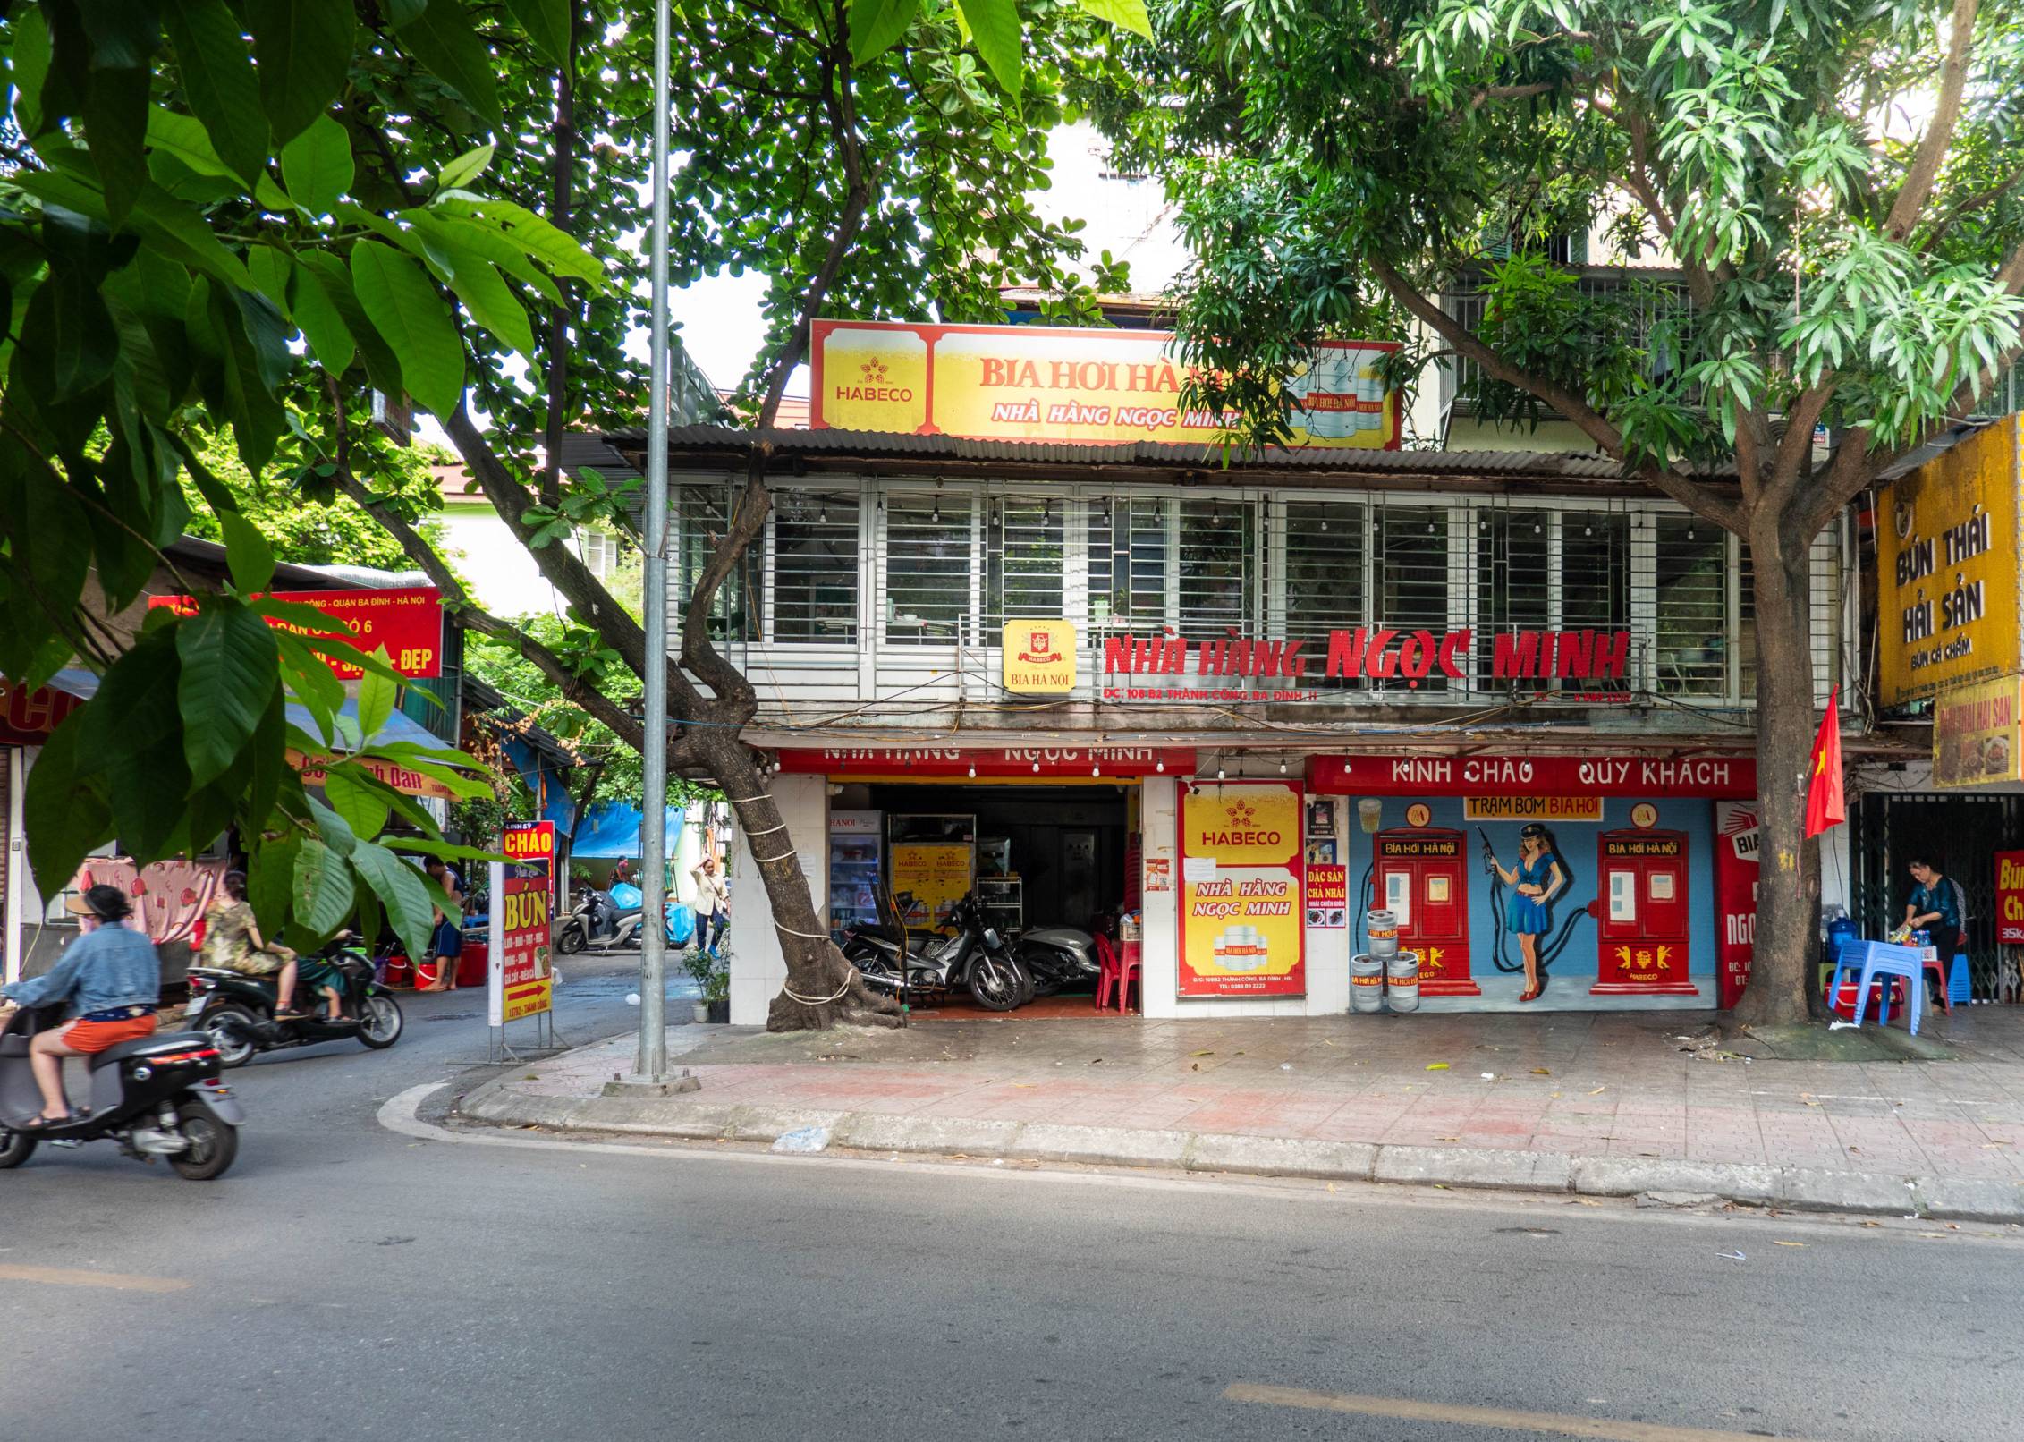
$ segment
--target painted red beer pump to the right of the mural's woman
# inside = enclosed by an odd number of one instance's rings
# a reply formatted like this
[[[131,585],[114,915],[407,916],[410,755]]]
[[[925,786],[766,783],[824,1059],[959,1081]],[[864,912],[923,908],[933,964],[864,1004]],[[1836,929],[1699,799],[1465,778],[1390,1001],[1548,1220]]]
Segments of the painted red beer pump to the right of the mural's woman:
[[[1698,996],[1686,974],[1686,832],[1605,830],[1589,903],[1601,938],[1591,996]]]

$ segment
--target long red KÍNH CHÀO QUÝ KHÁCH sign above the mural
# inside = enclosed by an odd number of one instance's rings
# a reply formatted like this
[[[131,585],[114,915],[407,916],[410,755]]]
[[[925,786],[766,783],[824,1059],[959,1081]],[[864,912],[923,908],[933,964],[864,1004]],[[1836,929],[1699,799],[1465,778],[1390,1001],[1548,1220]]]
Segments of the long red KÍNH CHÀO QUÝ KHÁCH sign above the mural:
[[[1324,796],[1755,796],[1751,755],[1316,755]]]

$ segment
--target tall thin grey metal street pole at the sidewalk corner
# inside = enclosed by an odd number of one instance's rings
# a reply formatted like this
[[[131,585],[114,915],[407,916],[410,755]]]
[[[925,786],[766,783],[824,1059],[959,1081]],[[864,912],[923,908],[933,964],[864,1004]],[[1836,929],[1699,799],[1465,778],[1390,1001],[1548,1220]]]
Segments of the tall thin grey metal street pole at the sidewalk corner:
[[[646,421],[646,798],[640,818],[640,1057],[642,1082],[668,1075],[668,0],[654,0],[654,304],[648,330],[652,395]]]

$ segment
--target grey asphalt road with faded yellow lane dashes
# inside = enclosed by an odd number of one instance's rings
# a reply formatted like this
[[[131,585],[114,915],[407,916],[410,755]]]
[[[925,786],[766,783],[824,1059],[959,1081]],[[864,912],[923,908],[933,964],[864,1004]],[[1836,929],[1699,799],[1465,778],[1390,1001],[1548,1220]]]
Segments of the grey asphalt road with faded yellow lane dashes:
[[[625,1027],[625,964],[579,968],[565,1037]],[[2024,1416],[2016,1233],[417,1136],[376,1112],[484,1075],[449,1065],[484,1013],[407,1009],[393,1051],[235,1073],[219,1183],[105,1144],[0,1173],[0,1438],[2008,1442]]]

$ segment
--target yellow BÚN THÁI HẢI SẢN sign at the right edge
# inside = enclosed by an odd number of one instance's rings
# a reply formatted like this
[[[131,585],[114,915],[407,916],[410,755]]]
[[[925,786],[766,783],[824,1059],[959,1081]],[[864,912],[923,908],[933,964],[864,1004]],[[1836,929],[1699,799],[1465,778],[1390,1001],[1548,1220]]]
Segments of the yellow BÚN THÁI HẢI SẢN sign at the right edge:
[[[1876,525],[1880,703],[2018,670],[2018,417],[1884,490]]]

